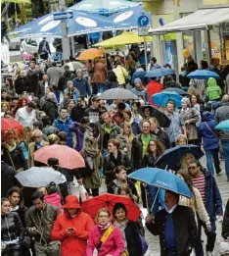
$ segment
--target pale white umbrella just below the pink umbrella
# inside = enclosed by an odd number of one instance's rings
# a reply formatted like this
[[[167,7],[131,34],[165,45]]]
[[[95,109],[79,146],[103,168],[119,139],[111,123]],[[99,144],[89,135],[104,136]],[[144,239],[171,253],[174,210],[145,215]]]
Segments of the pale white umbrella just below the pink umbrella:
[[[23,186],[28,187],[46,186],[52,181],[56,184],[67,181],[66,177],[60,172],[55,171],[53,168],[46,167],[32,167],[16,175],[16,178]]]

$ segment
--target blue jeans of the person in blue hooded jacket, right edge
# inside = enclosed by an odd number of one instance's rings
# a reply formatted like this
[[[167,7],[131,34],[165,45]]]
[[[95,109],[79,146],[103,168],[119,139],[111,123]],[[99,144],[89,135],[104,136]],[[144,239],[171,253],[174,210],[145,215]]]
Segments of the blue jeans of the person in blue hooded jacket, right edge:
[[[221,172],[220,162],[218,159],[218,151],[219,148],[206,150],[206,168],[212,174],[212,176],[214,175],[214,168],[216,174],[219,174]],[[212,162],[214,162],[214,168]]]

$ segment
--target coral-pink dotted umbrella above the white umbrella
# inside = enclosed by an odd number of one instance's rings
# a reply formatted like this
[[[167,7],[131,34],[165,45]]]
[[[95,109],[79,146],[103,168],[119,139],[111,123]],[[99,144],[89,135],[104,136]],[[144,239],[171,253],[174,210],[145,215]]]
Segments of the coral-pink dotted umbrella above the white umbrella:
[[[62,145],[51,145],[38,149],[34,153],[35,161],[48,164],[48,159],[55,157],[59,159],[60,166],[67,169],[85,167],[84,159],[73,148]]]

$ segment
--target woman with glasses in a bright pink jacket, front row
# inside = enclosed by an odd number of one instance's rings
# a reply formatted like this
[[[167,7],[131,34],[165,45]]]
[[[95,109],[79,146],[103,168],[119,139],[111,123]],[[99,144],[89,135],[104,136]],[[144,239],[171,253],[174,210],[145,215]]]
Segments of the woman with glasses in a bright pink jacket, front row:
[[[100,209],[96,219],[98,225],[90,231],[87,241],[87,256],[93,256],[95,248],[98,250],[98,256],[120,256],[124,251],[124,241],[120,230],[114,227],[108,238],[103,243],[101,242],[103,234],[113,226],[109,209]]]

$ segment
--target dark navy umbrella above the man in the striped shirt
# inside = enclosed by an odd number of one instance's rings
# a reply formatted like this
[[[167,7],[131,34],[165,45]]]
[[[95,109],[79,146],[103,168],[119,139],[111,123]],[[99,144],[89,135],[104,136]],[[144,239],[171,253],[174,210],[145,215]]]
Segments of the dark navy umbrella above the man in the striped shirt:
[[[158,158],[156,164],[159,165],[160,163],[163,163],[167,165],[168,169],[176,171],[180,167],[180,160],[182,156],[186,153],[191,153],[196,159],[200,159],[205,155],[200,146],[178,145],[165,150]]]

